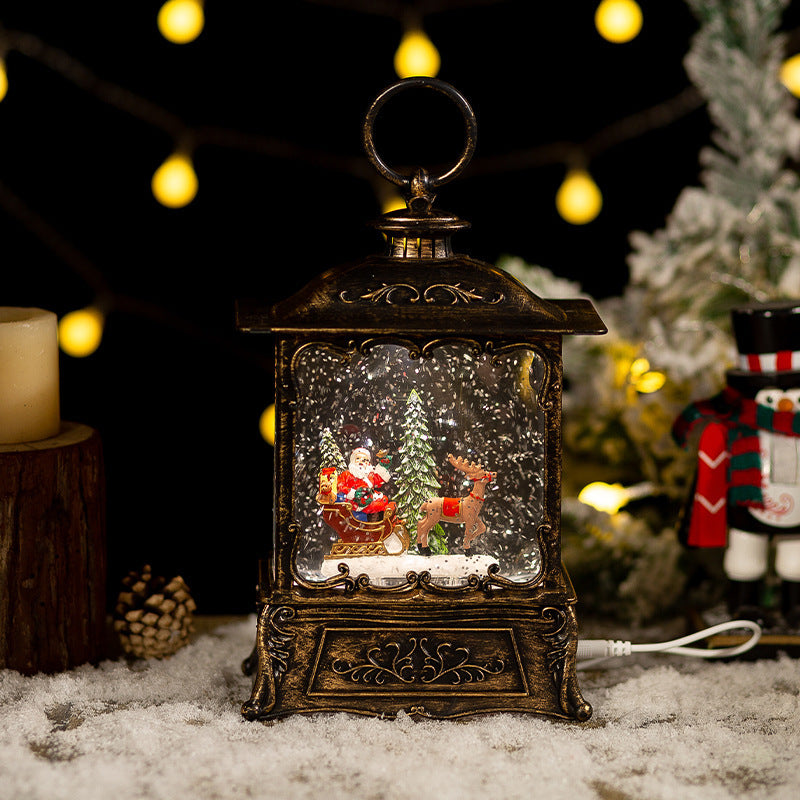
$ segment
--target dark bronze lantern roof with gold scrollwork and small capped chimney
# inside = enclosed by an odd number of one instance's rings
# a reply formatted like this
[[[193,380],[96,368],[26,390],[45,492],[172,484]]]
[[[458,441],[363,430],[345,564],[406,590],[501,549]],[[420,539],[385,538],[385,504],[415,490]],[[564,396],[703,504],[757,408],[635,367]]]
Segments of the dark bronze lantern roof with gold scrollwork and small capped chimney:
[[[329,269],[271,308],[240,301],[237,327],[305,335],[606,332],[589,300],[543,299],[503,270],[452,253],[449,232],[466,223],[435,209],[428,215],[427,224],[418,214],[385,215],[376,227],[387,233],[389,254]]]

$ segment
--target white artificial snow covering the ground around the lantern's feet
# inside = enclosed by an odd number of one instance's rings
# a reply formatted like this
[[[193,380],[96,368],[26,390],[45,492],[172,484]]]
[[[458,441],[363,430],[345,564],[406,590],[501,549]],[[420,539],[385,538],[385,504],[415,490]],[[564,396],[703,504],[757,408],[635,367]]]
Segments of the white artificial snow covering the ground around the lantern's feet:
[[[245,722],[255,618],[171,659],[0,671],[0,798],[777,798],[800,787],[800,663],[635,656],[584,724],[522,715]]]

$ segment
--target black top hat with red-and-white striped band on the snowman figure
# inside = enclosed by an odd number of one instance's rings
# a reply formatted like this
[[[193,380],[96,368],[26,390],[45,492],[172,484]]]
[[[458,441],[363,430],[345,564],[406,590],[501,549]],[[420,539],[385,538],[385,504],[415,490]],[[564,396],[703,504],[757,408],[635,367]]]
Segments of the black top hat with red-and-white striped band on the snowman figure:
[[[800,388],[800,300],[734,308],[731,321],[739,363],[727,373],[730,386],[745,394]]]

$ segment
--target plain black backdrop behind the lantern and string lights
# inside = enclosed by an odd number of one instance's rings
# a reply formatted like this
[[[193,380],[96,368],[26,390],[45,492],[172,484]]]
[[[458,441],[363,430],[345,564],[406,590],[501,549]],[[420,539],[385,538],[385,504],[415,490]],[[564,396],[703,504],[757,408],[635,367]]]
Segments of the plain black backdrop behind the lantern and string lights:
[[[102,275],[116,307],[97,353],[62,356],[61,393],[63,418],[96,427],[104,441],[110,593],[128,569],[152,563],[181,573],[203,612],[248,611],[271,536],[272,452],[257,423],[274,393],[270,343],[235,331],[234,302],[271,304],[378,247],[365,224],[379,213],[373,187],[336,164],[363,158],[363,117],[396,80],[402,29],[348,4],[208,0],[205,31],[179,46],[156,29],[159,5],[0,8],[6,29],[60,48],[188,127],[236,132],[231,146],[196,149],[196,200],[165,209],[150,178],[172,136],[10,52],[0,182],[29,216],[20,206],[0,212],[0,304],[61,315],[95,300],[96,281],[76,262]],[[384,5],[395,4],[364,7]],[[518,255],[604,297],[627,281],[629,232],[662,227],[680,190],[697,183],[705,110],[594,159],[605,206],[587,226],[555,212],[563,164],[485,168],[518,150],[580,143],[688,85],[682,61],[696,25],[683,2],[642,0],[644,28],[625,45],[598,36],[595,5],[453,2],[425,28],[442,56],[439,77],[478,119],[474,169],[437,203],[472,222],[457,249],[486,261]],[[420,102],[425,118],[402,135],[383,125],[379,146],[409,163],[457,155],[458,113]],[[321,159],[276,158],[244,134]],[[66,257],[64,242],[74,248]]]

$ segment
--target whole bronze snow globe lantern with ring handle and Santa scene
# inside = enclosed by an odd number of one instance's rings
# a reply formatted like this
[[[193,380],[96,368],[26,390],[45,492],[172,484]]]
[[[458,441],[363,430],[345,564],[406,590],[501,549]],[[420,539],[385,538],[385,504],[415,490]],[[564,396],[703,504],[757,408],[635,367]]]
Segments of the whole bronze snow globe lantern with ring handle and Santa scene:
[[[466,123],[439,177],[374,148],[375,115],[410,86]],[[588,719],[561,563],[561,342],[605,327],[588,300],[543,300],[453,252],[467,223],[431,193],[468,163],[475,118],[452,86],[395,84],[364,138],[409,195],[376,223],[386,252],[238,308],[241,330],[277,340],[274,552],[242,713]]]

